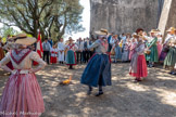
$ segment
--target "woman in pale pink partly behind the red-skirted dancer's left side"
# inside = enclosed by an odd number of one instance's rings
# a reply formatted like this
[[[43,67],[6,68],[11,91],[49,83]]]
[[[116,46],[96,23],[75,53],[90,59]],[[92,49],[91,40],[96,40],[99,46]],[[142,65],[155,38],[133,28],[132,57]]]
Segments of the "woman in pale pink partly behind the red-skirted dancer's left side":
[[[137,34],[133,34],[133,39],[131,39],[131,42],[130,42],[130,48],[129,48],[129,61],[131,61],[131,57],[135,53],[135,48],[137,46],[137,42],[136,42],[136,39],[138,38],[139,36],[137,36]]]

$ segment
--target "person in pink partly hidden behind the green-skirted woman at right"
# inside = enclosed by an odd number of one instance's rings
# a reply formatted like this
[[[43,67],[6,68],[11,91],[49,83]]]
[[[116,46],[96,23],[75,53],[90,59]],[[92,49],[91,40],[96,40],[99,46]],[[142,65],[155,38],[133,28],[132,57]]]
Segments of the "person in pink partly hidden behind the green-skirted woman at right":
[[[162,34],[159,32],[159,34],[156,34],[156,36],[158,36],[158,56],[160,58],[160,54],[161,54],[162,49],[163,49],[163,44],[162,44]]]

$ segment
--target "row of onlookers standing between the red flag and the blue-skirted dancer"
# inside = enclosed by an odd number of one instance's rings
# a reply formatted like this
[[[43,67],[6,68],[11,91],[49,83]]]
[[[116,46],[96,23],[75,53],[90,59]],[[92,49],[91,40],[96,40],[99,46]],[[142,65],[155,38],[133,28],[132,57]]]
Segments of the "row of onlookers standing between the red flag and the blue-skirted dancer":
[[[88,49],[91,43],[92,40],[89,38],[79,38],[76,42],[72,37],[65,42],[61,38],[56,43],[53,43],[51,38],[45,38],[42,42],[42,58],[47,64],[66,63],[70,69],[73,69],[73,65],[87,63],[92,56],[93,50]]]

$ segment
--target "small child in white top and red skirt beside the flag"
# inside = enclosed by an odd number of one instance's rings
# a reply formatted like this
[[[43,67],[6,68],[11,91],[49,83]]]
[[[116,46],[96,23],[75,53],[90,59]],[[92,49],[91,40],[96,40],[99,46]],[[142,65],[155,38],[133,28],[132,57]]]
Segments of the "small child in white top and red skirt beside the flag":
[[[58,51],[59,50],[55,48],[55,46],[52,46],[52,48],[50,50],[50,53],[51,53],[50,63],[51,64],[55,64],[56,63]]]

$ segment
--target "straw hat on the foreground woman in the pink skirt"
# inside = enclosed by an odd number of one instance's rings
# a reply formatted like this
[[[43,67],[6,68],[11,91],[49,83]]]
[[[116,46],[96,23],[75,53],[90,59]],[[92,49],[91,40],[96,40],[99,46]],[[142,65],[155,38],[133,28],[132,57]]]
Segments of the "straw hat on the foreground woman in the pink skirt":
[[[30,46],[37,41],[36,38],[29,38],[27,37],[26,34],[18,34],[10,39],[14,41],[13,43],[25,44],[25,46]]]

